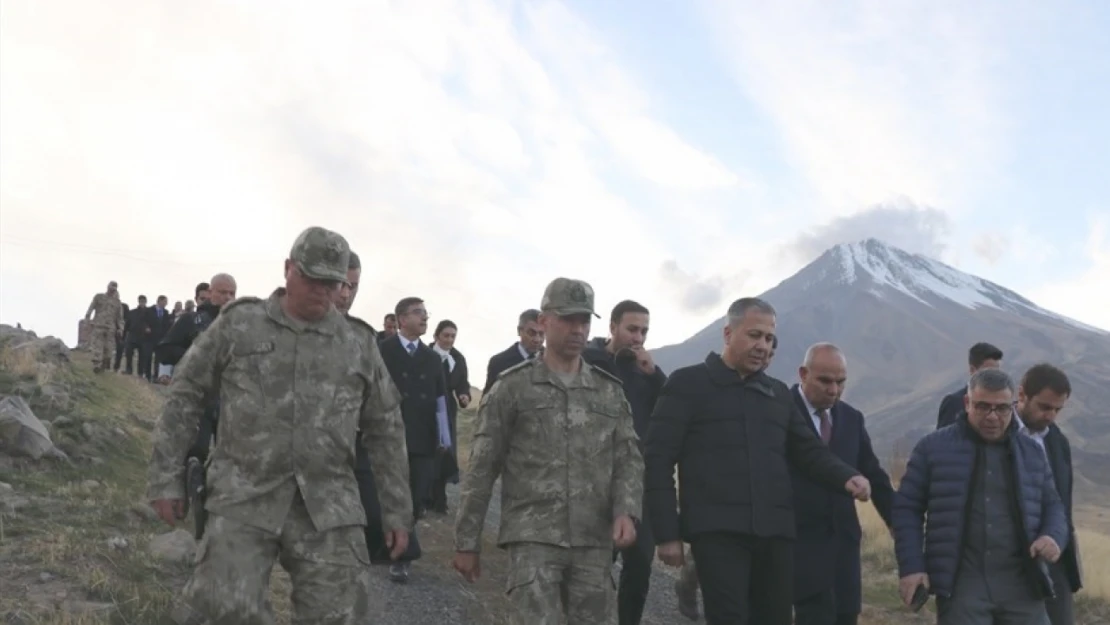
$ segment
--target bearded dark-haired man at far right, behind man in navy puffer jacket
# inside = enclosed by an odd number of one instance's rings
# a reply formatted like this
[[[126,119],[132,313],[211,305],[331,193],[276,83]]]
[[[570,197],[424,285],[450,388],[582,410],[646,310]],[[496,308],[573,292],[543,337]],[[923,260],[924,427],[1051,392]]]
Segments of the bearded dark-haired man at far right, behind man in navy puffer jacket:
[[[1032,438],[1045,451],[1068,518],[1068,546],[1060,554],[1060,560],[1049,565],[1056,598],[1047,599],[1045,607],[1052,625],[1070,625],[1076,622],[1072,595],[1083,587],[1076,525],[1071,517],[1071,444],[1056,424],[1070,395],[1071,382],[1067,374],[1050,364],[1032,366],[1021,377],[1021,386],[1018,389],[1017,412],[1021,421],[1019,432]]]

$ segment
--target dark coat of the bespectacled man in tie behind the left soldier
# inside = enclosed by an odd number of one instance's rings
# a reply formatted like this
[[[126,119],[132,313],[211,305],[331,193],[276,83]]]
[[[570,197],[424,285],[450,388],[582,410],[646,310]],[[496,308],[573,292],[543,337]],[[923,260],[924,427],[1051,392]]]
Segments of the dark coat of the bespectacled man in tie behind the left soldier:
[[[435,455],[440,447],[435,400],[447,394],[440,354],[421,343],[416,353],[408,355],[398,336],[382,341],[379,349],[393,383],[401,392],[401,416],[405,420],[408,454]]]

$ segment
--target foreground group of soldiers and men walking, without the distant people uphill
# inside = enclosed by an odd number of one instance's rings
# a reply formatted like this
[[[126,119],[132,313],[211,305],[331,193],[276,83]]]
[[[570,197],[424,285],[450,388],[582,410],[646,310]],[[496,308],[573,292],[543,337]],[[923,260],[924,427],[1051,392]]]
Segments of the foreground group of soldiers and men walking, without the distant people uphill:
[[[451,481],[453,564],[474,581],[498,480],[496,542],[522,625],[639,623],[656,556],[684,567],[684,614],[697,616],[700,587],[710,625],[855,623],[855,501],[891,527],[907,605],[931,593],[944,624],[1043,624],[1051,598],[1052,624],[1068,623],[1070,486],[1054,470],[1070,460],[1053,457],[1067,444],[1052,421],[1070,386],[1056,367],[1020,387],[976,371],[956,422],[918,443],[896,492],[840,399],[839,347],[813,345],[793,386],[767,375],[768,302],[737,300],[722,350],[666,375],[645,349],[645,306],[620,302],[608,339],[589,341],[594,291],[559,278],[490,359],[460,475],[454,421],[471,390],[457,327],[441,322],[425,345],[428,311],[406,298],[377,332],[349,312],[360,275],[342,235],[310,228],[284,286],[223,304],[176,362],[148,494],[164,521],[182,518],[184,461],[214,412],[209,517],[185,587],[210,623],[269,623],[279,560],[295,621],[372,622],[369,565],[407,578],[414,522],[447,512]]]

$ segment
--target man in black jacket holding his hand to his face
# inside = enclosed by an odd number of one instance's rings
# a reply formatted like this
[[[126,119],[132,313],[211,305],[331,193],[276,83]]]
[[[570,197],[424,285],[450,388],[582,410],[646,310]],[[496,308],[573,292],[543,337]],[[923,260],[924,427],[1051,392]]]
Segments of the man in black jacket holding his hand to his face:
[[[643,304],[632,300],[618,303],[609,314],[609,340],[591,345],[582,354],[587,363],[620,379],[625,399],[632,407],[633,427],[640,441],[647,434],[647,421],[655,400],[667,381],[663,370],[652,361],[652,354],[644,349],[649,315]],[[640,447],[643,451],[643,444]],[[624,550],[620,557],[624,563],[617,591],[618,623],[639,625],[652,578],[652,562],[655,560],[655,540],[646,514],[640,515],[639,526],[636,527],[636,543]]]

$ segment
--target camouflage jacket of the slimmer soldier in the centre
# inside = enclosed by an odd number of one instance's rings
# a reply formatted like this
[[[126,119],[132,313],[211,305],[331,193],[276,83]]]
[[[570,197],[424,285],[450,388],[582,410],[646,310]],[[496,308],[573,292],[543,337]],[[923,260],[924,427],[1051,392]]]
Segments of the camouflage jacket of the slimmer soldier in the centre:
[[[644,460],[620,382],[583,362],[564,384],[539,359],[498,376],[478,409],[457,551],[481,551],[498,476],[500,545],[612,547],[613,521],[638,517],[644,493]]]

